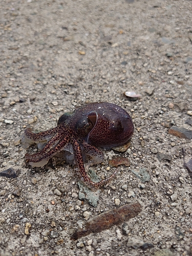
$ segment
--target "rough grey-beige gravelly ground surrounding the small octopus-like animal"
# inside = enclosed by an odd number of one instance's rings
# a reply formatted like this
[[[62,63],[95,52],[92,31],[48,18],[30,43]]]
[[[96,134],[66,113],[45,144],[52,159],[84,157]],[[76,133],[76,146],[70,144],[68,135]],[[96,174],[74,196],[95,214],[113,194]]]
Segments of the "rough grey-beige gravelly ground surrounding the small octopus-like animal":
[[[0,177],[0,255],[191,255],[191,178],[182,148],[192,158],[192,142],[168,129],[192,131],[185,123],[192,111],[192,1],[0,5],[0,166],[17,174]],[[125,91],[142,96],[130,101]],[[108,177],[112,157],[131,162],[99,190],[96,207],[79,200],[72,166],[32,168],[19,142],[26,127],[48,130],[61,114],[94,101],[122,106],[135,125],[129,150],[105,151],[105,165],[91,167]],[[137,217],[70,240],[87,219],[130,202],[142,206]]]

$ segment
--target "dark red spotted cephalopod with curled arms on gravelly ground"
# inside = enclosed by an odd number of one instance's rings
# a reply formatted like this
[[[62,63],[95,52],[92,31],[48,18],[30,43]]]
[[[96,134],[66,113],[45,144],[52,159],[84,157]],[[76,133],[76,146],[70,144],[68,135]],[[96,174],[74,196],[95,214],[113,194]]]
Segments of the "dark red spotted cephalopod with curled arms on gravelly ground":
[[[130,115],[120,106],[108,102],[94,102],[82,105],[72,113],[62,115],[57,126],[51,130],[34,134],[25,131],[23,140],[38,143],[47,141],[41,151],[33,155],[26,154],[26,160],[33,166],[43,166],[63,147],[71,143],[74,151],[76,172],[81,181],[90,188],[98,188],[108,183],[109,178],[94,183],[84,169],[82,152],[93,158],[93,163],[104,160],[103,152],[96,146],[112,148],[125,144],[134,133]]]

